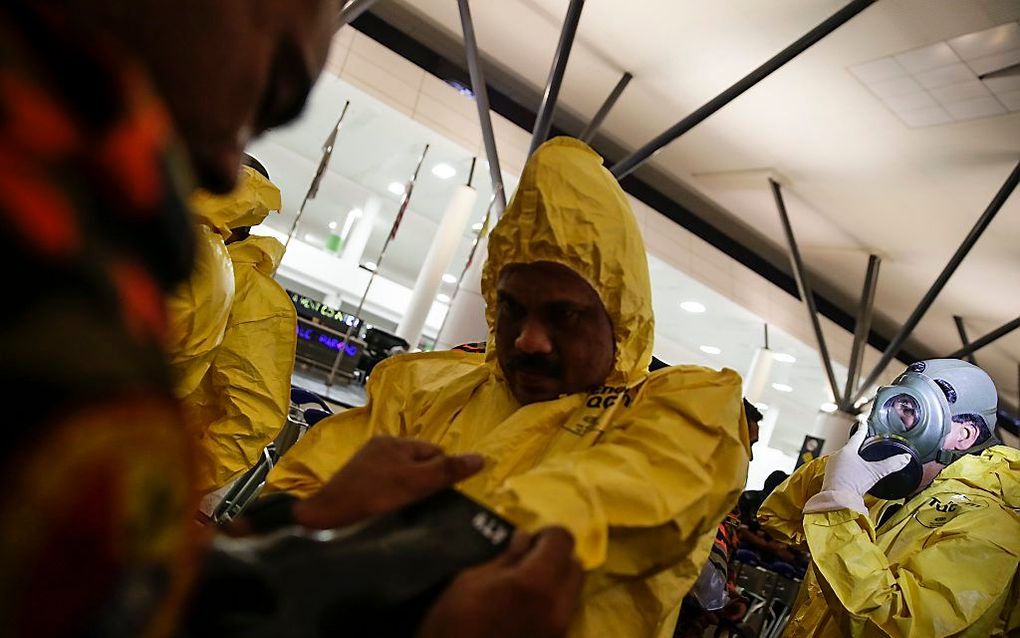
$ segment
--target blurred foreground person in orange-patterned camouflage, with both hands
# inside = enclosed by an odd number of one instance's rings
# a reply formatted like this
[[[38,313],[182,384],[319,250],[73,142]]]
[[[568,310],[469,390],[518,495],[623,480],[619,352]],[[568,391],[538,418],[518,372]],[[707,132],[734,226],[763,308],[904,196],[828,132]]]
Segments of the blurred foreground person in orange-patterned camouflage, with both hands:
[[[300,112],[338,8],[0,3],[0,266],[16,300],[0,325],[5,636],[174,633],[203,547],[196,452],[163,351],[164,298],[194,259],[187,196],[232,190],[251,138]],[[369,489],[310,508],[399,507],[480,464],[373,444],[339,479]],[[447,590],[429,636],[491,620],[477,592],[503,601],[505,635],[549,635],[576,594],[528,568],[559,560],[569,575],[569,555],[562,532],[525,537]]]

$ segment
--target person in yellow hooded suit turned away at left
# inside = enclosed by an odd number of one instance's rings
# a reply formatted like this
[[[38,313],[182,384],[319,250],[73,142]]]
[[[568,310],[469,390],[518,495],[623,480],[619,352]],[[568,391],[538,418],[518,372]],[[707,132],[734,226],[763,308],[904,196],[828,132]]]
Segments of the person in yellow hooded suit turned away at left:
[[[190,331],[176,341],[186,347],[171,348],[171,355],[186,421],[203,452],[203,492],[254,464],[275,436],[287,416],[294,366],[294,304],[272,280],[284,246],[247,234],[279,209],[279,190],[255,168],[243,171],[233,193],[194,198],[199,252],[209,258],[169,303],[173,334]]]

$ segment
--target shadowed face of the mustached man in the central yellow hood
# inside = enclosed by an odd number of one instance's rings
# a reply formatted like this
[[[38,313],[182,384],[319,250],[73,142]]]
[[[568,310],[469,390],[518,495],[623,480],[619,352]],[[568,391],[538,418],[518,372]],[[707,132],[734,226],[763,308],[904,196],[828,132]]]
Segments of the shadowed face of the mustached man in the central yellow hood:
[[[496,353],[522,404],[602,384],[615,358],[613,326],[598,293],[570,268],[514,263],[497,285]]]

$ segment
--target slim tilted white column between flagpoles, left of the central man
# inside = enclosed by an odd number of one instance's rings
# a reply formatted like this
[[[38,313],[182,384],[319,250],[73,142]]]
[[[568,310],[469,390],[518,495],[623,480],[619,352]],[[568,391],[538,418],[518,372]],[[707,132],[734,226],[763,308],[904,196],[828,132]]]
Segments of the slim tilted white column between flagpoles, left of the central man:
[[[418,272],[407,310],[397,326],[397,336],[407,340],[411,348],[416,348],[418,341],[421,340],[421,330],[436,301],[436,293],[439,292],[440,284],[443,282],[443,275],[450,267],[457,244],[467,231],[471,210],[477,198],[478,192],[473,188],[460,186],[443,213],[443,220],[440,222],[440,228],[436,231],[431,246],[428,247],[425,261]]]

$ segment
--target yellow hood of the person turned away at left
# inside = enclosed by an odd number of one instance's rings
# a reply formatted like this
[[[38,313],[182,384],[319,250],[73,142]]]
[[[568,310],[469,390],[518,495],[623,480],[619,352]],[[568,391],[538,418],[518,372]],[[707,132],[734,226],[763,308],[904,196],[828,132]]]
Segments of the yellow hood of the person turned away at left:
[[[243,166],[238,188],[227,195],[198,191],[192,196],[192,209],[200,224],[216,230],[223,239],[231,230],[258,226],[273,210],[279,210],[279,189],[250,166]]]

